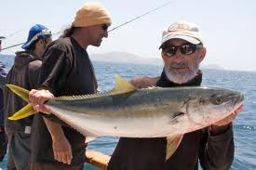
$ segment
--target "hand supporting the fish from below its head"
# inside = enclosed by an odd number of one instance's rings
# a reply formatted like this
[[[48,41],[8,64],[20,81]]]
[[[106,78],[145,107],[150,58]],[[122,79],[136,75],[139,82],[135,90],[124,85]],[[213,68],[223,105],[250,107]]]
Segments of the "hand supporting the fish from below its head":
[[[238,112],[240,112],[242,110],[243,110],[243,105],[238,107],[236,109],[236,111],[234,111],[232,114],[228,115],[227,117],[225,117],[221,121],[218,121],[217,123],[211,124],[209,126],[210,134],[211,135],[218,135],[218,134],[222,134],[223,132],[225,132],[227,130],[227,128],[229,127],[229,125],[232,123],[232,121],[236,118],[236,115],[238,114]]]

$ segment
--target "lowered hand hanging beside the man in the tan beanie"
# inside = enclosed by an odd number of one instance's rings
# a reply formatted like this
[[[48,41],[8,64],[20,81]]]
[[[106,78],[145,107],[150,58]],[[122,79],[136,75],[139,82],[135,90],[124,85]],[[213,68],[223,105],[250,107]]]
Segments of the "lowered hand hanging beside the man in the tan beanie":
[[[52,149],[55,160],[61,163],[71,163],[72,150],[66,137],[52,138]]]

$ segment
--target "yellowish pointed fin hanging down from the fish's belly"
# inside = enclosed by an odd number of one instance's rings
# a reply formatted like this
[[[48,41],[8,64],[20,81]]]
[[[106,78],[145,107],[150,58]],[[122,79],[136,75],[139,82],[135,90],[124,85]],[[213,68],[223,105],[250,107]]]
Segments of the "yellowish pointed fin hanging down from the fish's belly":
[[[167,137],[167,149],[166,149],[166,162],[170,158],[170,156],[178,149],[183,135]]]

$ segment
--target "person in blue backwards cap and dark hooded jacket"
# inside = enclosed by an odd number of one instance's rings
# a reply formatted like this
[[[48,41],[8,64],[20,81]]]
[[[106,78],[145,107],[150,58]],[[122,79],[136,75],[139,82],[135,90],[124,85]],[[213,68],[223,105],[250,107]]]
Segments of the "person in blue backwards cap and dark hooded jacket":
[[[31,90],[36,88],[42,64],[42,56],[51,42],[51,32],[41,24],[35,24],[29,31],[27,42],[21,46],[24,51],[16,52],[14,64],[7,73],[7,84],[19,85]],[[4,88],[5,125],[8,137],[7,169],[29,170],[31,163],[31,131],[34,116],[18,121],[8,120],[16,111],[27,105],[20,97]]]

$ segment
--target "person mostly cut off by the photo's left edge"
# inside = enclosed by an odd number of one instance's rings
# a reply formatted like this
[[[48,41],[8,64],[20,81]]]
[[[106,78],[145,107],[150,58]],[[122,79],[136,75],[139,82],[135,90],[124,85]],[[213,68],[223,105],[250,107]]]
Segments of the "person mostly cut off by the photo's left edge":
[[[4,36],[0,36],[0,52],[2,50],[2,39],[5,39]],[[0,60],[0,162],[3,161],[7,153],[7,135],[5,133],[5,124],[4,124],[4,93],[3,87],[6,85],[7,81],[7,71],[6,66]]]

